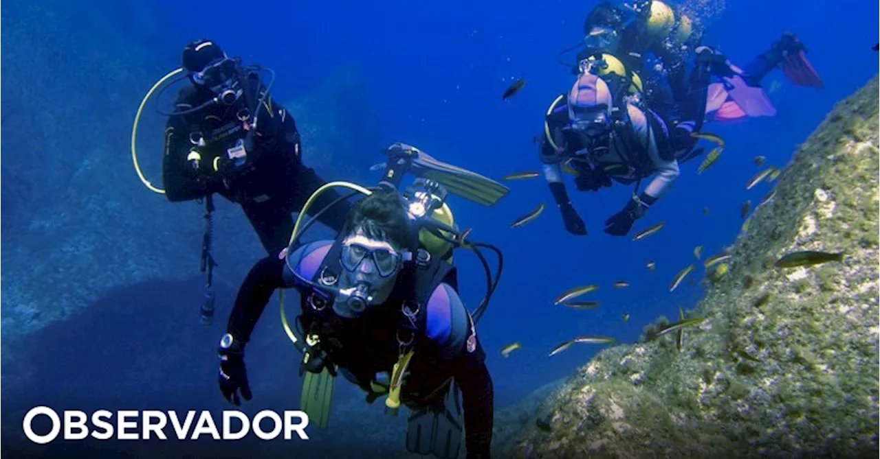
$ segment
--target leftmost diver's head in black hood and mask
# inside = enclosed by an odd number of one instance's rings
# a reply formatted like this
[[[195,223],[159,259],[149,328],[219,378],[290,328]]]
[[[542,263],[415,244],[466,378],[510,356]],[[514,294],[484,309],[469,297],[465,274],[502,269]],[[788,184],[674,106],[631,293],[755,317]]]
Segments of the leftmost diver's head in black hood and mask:
[[[224,102],[238,98],[238,61],[227,56],[212,40],[199,39],[188,44],[183,48],[182,60],[189,81],[197,89],[224,97]]]

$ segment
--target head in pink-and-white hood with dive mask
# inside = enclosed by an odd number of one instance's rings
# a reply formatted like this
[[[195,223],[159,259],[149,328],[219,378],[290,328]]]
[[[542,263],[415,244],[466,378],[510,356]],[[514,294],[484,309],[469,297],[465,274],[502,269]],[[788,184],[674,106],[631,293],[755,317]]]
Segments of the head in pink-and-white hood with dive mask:
[[[601,154],[609,146],[612,104],[611,89],[599,75],[580,75],[568,92],[568,128],[592,154]]]

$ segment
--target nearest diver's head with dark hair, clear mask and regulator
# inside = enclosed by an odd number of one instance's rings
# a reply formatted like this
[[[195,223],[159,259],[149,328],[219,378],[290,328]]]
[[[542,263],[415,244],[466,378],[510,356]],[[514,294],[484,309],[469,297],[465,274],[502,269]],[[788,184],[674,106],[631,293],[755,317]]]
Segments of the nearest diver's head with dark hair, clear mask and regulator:
[[[337,296],[334,312],[353,318],[370,305],[385,302],[410,259],[413,236],[397,190],[377,190],[348,212],[342,240],[338,287],[354,289]]]

